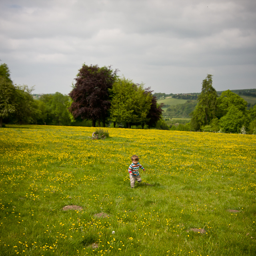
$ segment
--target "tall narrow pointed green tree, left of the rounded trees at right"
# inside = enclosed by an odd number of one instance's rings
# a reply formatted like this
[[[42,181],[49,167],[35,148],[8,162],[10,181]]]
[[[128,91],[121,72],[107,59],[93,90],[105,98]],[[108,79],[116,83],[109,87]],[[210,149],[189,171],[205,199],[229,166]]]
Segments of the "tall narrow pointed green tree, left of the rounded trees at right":
[[[202,91],[198,96],[198,104],[192,112],[191,126],[199,130],[202,126],[210,124],[216,116],[217,92],[212,86],[212,75],[207,75],[202,82]]]

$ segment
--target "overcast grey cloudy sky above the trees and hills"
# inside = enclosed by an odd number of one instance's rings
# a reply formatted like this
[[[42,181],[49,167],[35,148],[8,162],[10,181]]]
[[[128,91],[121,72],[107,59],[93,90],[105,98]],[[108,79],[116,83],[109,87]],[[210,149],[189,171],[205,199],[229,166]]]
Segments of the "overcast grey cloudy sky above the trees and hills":
[[[256,1],[1,0],[0,59],[34,93],[68,94],[83,63],[154,92],[256,88]]]

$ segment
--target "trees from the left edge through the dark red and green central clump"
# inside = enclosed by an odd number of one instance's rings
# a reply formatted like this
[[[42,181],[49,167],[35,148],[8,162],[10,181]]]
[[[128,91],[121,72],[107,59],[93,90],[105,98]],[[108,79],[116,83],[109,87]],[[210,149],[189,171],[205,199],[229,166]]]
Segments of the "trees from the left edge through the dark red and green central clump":
[[[0,65],[0,126],[4,123],[72,126],[159,126],[162,108],[144,84],[117,76],[118,70],[82,65],[69,95],[32,96],[34,88],[14,85]]]

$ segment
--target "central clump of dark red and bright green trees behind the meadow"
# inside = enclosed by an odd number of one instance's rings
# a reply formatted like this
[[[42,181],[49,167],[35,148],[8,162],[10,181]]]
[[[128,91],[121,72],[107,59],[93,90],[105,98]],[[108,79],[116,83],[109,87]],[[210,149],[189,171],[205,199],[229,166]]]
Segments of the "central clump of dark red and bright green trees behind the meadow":
[[[161,119],[162,108],[144,84],[135,84],[111,67],[83,64],[69,93],[70,112],[74,119],[92,120],[92,126],[130,128],[132,125],[155,127]]]

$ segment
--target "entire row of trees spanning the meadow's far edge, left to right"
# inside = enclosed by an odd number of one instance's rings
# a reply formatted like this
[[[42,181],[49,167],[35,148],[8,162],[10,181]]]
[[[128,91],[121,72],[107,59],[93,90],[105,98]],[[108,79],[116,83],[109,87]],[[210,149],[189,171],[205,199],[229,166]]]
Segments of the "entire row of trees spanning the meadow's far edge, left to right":
[[[144,84],[117,75],[111,67],[83,64],[69,95],[59,92],[32,96],[34,88],[13,84],[10,70],[0,65],[0,126],[4,123],[73,126],[112,126],[206,132],[256,134],[256,105],[227,90],[218,96],[212,86],[212,75],[202,82],[196,106],[193,100],[172,106],[167,113],[190,113],[191,122],[168,127],[162,119],[161,94],[152,94]],[[248,90],[243,93],[249,93]],[[254,93],[254,91],[250,92]]]

